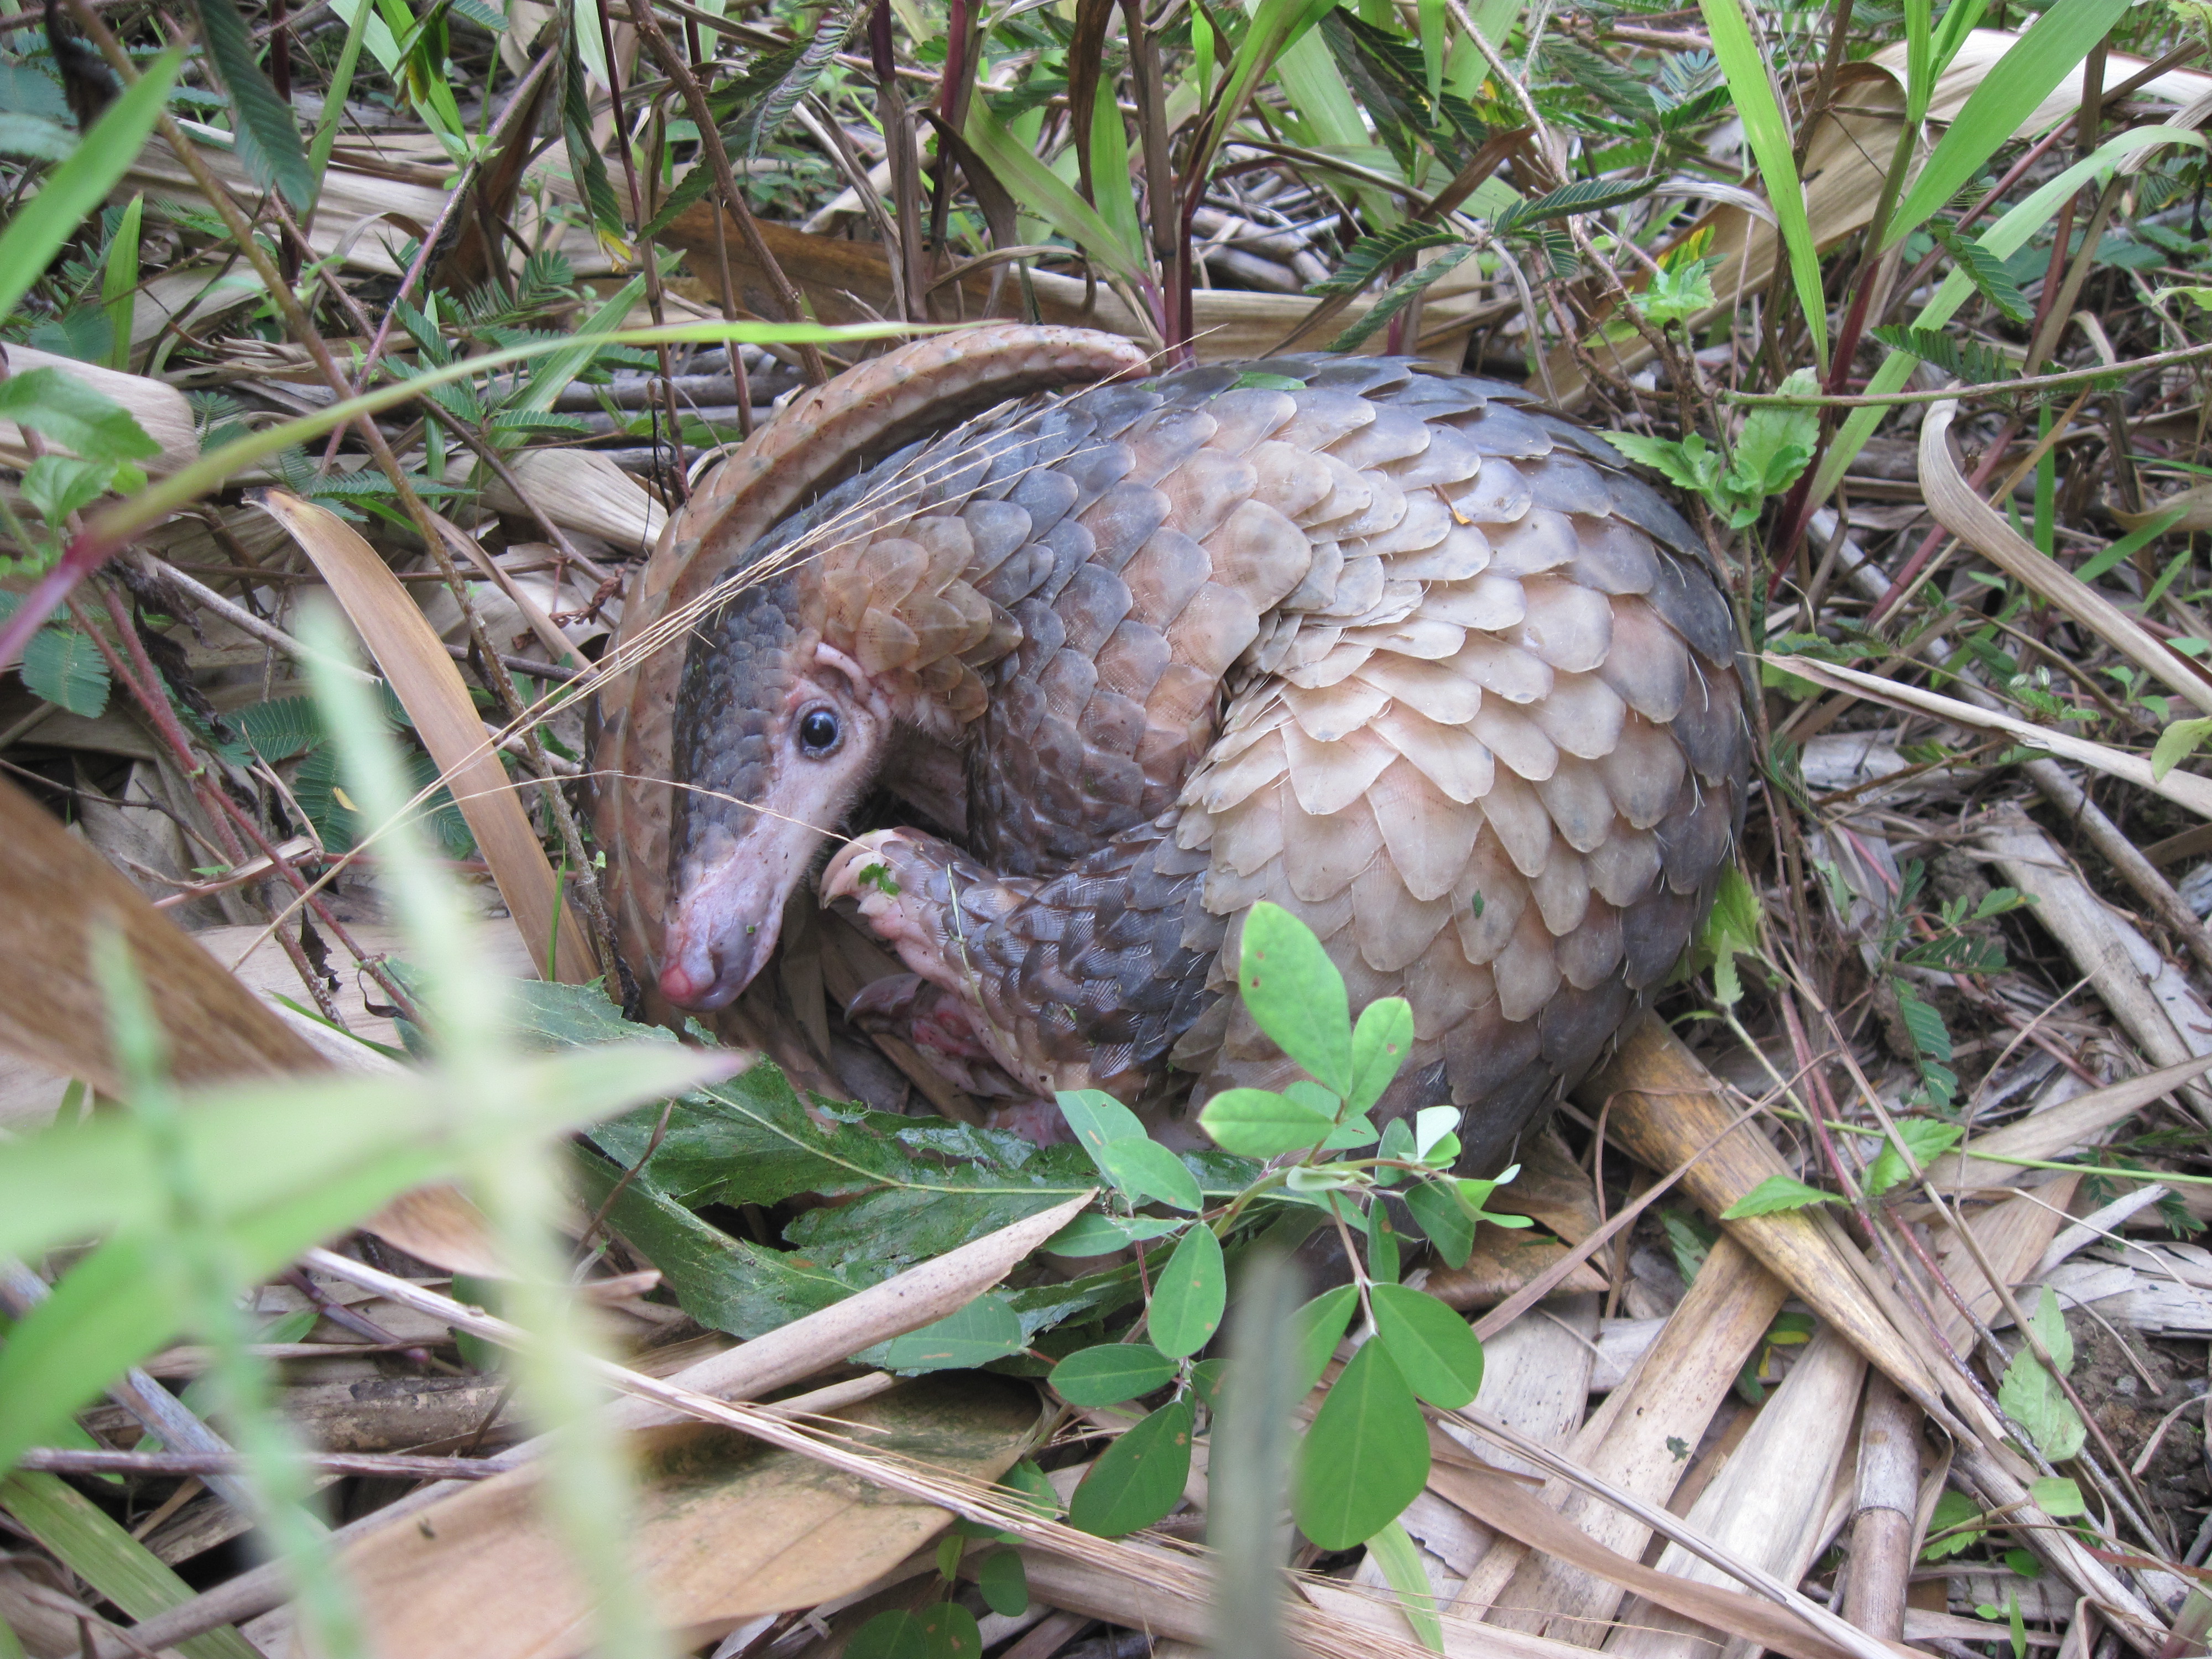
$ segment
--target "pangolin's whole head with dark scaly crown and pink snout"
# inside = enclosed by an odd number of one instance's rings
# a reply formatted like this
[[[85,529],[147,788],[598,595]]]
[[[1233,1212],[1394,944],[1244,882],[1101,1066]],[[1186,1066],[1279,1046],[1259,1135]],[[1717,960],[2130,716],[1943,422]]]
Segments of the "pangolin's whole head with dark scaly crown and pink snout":
[[[684,1009],[721,1009],[761,971],[894,730],[880,677],[810,626],[814,582],[799,566],[745,586],[690,641],[661,947],[661,995]]]

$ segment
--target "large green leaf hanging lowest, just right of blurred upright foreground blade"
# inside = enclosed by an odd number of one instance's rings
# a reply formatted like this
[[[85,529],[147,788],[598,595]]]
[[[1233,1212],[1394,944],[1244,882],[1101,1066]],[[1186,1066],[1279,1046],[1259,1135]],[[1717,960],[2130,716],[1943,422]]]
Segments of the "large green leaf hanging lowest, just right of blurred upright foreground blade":
[[[1325,1551],[1365,1544],[1429,1480],[1429,1425],[1380,1340],[1338,1374],[1298,1447],[1292,1513]]]

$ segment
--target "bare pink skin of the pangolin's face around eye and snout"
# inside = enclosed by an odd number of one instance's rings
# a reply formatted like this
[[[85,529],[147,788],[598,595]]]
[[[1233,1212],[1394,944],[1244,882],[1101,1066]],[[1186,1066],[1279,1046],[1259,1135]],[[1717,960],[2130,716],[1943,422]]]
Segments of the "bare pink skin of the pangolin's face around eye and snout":
[[[836,719],[827,752],[801,743],[805,721]],[[768,964],[814,854],[867,787],[898,710],[852,657],[818,644],[812,670],[783,695],[774,770],[737,836],[710,838],[684,860],[661,945],[661,995],[679,1009],[723,1009]]]

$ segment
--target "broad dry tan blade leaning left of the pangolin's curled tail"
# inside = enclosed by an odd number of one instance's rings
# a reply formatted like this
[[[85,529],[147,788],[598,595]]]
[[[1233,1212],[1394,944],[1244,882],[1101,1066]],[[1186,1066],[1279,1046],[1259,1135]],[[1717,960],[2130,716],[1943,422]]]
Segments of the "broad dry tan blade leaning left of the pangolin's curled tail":
[[[591,940],[562,898],[553,865],[538,845],[538,832],[522,812],[498,750],[484,739],[469,688],[438,635],[407,597],[407,588],[376,549],[330,509],[281,489],[265,491],[261,504],[314,560],[392,681],[425,748],[438,761],[440,779],[469,821],[538,971],[571,984],[597,978],[599,964],[593,960]]]

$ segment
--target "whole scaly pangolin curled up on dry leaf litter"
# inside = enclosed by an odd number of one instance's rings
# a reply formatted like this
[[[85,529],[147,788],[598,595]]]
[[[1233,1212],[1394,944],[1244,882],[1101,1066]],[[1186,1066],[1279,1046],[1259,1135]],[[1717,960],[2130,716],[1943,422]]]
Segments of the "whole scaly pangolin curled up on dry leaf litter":
[[[597,830],[633,969],[717,1009],[863,790],[905,792],[960,845],[843,843],[823,902],[911,969],[874,1015],[995,1062],[1031,1133],[1097,1086],[1188,1144],[1188,1102],[1287,1082],[1223,995],[1274,900],[1354,1009],[1411,1002],[1383,1110],[1455,1102],[1495,1166],[1712,900],[1736,650],[1701,538],[1517,387],[989,325],[805,394],[670,522]]]

